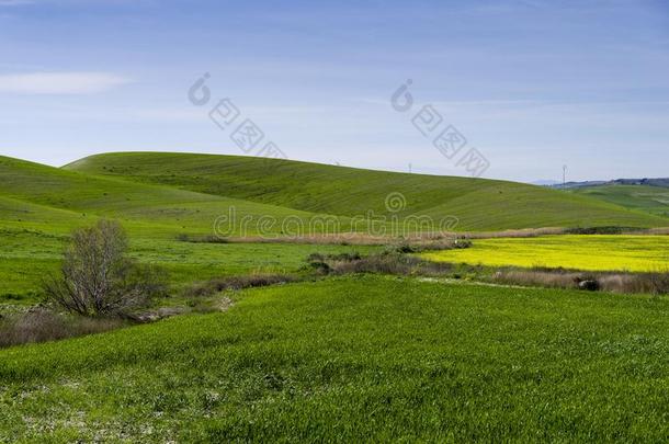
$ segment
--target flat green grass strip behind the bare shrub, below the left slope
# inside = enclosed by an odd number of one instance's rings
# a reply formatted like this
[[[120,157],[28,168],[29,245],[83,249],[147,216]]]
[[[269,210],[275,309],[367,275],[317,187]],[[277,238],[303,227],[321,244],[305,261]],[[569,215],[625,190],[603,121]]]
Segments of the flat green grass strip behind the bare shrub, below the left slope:
[[[0,304],[34,304],[42,277],[58,271],[67,236],[0,230]],[[190,243],[173,239],[131,239],[131,257],[169,272],[173,292],[186,284],[249,273],[295,273],[315,252],[325,254],[379,250],[373,246],[308,243]],[[0,310],[1,311],[1,310]]]

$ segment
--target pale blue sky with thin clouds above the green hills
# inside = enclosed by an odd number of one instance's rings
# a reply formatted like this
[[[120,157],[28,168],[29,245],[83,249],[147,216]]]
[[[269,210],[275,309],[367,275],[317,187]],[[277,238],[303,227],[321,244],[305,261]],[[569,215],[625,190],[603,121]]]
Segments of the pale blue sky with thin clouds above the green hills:
[[[487,178],[668,177],[668,75],[667,1],[0,0],[0,153],[240,155],[230,98],[291,159],[467,175],[411,124],[431,104]]]

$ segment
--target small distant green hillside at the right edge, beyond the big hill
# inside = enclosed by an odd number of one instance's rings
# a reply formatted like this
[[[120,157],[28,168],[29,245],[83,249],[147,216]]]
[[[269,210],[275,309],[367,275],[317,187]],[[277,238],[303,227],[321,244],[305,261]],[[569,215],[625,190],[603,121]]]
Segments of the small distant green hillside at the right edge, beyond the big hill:
[[[669,216],[669,189],[645,185],[601,185],[575,189],[575,194],[598,198],[626,208]]]

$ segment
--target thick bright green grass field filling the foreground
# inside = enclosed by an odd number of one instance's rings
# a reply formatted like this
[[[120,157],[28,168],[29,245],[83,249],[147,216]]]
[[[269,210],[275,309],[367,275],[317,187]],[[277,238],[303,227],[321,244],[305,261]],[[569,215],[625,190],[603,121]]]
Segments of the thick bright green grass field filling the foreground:
[[[0,441],[669,439],[666,298],[347,277],[0,351]]]

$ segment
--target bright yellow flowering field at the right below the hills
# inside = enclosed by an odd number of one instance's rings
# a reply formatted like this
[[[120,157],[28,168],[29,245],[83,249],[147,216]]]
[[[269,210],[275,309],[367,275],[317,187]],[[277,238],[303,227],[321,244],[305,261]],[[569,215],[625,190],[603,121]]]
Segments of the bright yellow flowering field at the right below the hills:
[[[668,236],[546,236],[480,239],[464,250],[429,252],[432,261],[570,269],[585,271],[669,271]]]

